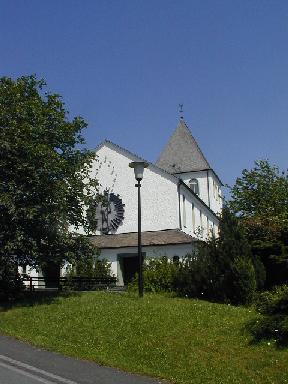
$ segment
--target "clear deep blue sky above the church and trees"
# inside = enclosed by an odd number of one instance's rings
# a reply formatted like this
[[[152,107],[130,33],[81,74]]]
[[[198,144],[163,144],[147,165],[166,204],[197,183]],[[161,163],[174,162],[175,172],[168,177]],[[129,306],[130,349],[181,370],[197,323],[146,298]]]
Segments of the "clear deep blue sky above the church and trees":
[[[287,168],[287,0],[0,0],[0,43],[1,76],[44,77],[89,148],[153,162],[183,103],[224,183],[260,158]]]

